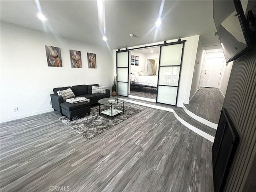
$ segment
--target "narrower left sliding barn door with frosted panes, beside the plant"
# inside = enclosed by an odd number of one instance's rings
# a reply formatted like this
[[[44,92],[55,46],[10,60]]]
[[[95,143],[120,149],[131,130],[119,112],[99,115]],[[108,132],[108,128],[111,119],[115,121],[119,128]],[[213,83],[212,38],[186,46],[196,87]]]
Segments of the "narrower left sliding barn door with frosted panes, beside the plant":
[[[128,97],[129,51],[116,52],[116,92]]]

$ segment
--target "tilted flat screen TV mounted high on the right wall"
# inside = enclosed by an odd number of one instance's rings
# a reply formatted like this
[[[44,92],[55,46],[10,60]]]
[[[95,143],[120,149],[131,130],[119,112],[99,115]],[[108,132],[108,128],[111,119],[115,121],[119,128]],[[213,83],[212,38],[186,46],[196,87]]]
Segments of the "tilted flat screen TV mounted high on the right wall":
[[[242,3],[243,6],[240,1],[214,0],[213,2],[213,19],[226,62],[242,56],[252,46],[252,32],[244,14],[248,1]]]

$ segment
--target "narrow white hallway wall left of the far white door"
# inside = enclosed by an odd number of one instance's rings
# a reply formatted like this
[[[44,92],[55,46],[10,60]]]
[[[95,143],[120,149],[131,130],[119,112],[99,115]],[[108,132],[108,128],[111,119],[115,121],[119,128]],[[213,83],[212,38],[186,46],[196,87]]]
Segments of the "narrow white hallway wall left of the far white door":
[[[201,71],[202,71],[202,66],[203,66],[203,62],[204,62],[204,54],[203,54],[204,51],[203,51],[203,49],[204,48],[203,48],[203,45],[202,45],[202,42],[201,42],[201,38],[199,38],[197,54],[196,54],[196,62],[195,62],[195,66],[194,66],[194,74],[193,74],[193,79],[192,79],[192,85],[191,85],[189,100],[194,96],[194,94],[199,89]]]

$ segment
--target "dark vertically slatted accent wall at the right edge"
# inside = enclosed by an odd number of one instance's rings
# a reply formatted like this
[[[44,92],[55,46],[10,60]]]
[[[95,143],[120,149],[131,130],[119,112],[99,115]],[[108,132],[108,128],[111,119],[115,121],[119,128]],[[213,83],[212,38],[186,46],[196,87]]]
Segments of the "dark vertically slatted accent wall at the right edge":
[[[248,191],[246,184],[252,174],[256,178],[256,172],[251,171],[256,158],[256,48],[234,61],[223,107],[240,130],[240,143],[224,191]]]

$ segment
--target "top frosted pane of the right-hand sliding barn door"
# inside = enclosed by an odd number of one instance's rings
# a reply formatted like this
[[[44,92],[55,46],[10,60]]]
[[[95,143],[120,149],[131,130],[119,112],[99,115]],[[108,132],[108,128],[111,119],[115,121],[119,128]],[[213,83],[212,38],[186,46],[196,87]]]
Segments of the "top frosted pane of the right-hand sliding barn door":
[[[183,44],[161,47],[160,66],[180,65]]]

